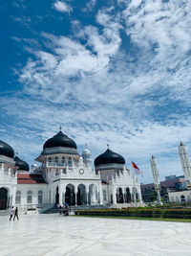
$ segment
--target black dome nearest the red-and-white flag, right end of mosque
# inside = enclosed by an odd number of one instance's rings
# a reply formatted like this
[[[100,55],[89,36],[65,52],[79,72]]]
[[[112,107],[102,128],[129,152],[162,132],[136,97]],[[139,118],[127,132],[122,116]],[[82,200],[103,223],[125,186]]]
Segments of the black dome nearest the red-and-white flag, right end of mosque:
[[[125,164],[125,159],[117,152],[108,149],[104,153],[98,155],[95,159],[95,166],[105,164]]]

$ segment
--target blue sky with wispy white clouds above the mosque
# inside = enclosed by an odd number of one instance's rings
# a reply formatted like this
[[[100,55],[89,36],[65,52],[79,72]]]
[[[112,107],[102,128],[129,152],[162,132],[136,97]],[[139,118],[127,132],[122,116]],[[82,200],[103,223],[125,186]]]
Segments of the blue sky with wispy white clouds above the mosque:
[[[30,164],[59,126],[92,158],[107,143],[151,182],[182,175],[191,146],[191,3],[0,4],[0,139]]]

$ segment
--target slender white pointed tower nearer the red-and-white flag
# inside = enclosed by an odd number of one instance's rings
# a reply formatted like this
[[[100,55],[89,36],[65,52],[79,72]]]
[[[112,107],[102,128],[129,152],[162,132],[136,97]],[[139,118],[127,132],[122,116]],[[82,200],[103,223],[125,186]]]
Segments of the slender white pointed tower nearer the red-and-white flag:
[[[158,193],[158,202],[161,205],[161,198],[160,198],[160,183],[159,183],[159,170],[158,170],[158,164],[156,158],[152,155],[151,156],[151,170],[153,174],[154,184],[155,184],[155,190]]]

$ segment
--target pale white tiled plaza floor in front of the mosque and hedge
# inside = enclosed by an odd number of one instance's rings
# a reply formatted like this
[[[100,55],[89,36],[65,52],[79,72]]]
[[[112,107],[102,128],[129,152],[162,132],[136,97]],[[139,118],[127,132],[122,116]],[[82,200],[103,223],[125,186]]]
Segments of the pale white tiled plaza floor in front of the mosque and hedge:
[[[0,255],[191,255],[191,223],[1,216]]]

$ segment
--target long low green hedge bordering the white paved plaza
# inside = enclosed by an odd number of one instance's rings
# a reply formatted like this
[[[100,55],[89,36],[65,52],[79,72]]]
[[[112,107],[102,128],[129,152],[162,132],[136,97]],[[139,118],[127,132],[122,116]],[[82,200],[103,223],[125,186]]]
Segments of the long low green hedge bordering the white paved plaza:
[[[144,217],[167,219],[191,219],[191,209],[107,209],[107,210],[79,210],[75,215],[89,216],[117,216],[117,217]]]

